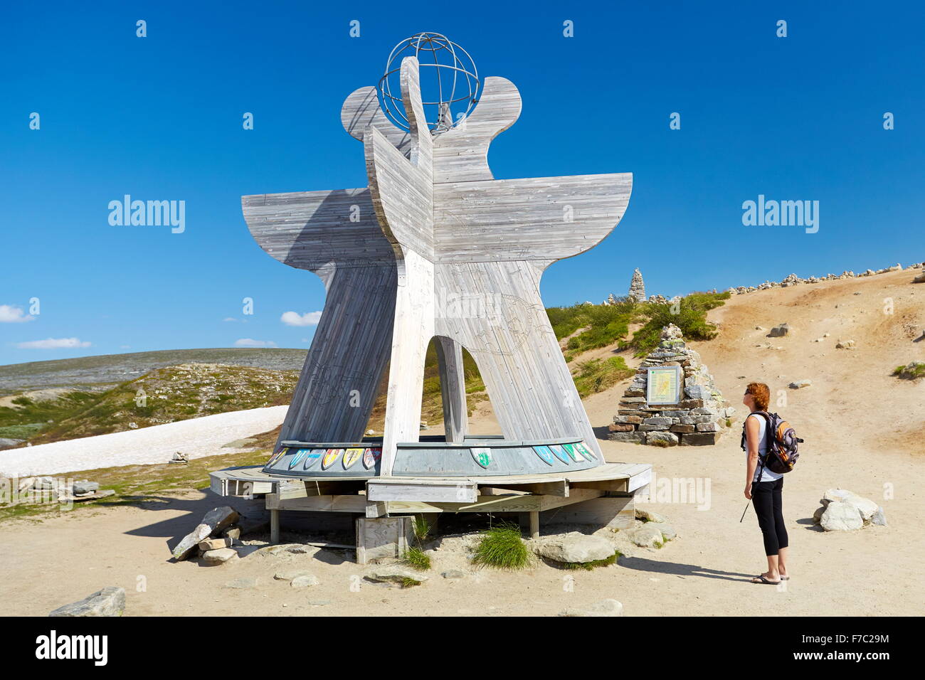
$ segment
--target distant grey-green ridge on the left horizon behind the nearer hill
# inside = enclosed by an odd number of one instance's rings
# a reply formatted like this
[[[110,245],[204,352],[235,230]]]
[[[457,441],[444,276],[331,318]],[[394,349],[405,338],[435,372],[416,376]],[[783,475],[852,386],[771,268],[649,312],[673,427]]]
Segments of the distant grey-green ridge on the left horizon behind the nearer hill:
[[[29,389],[98,390],[180,364],[224,364],[269,370],[301,370],[306,350],[216,348],[103,354],[77,359],[0,365],[0,397]]]

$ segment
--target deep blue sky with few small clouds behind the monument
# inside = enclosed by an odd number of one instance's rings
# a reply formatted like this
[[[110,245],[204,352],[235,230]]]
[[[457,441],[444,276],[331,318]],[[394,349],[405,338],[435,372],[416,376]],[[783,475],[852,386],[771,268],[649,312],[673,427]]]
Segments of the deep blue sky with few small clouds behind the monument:
[[[259,249],[240,195],[365,186],[340,105],[416,31],[445,33],[480,75],[520,89],[523,113],[491,147],[497,178],[635,175],[611,236],[549,268],[547,305],[624,294],[635,266],[671,296],[925,260],[921,4],[459,6],[7,6],[0,364],[243,339],[307,348],[314,327],[280,316],[321,310],[324,287]],[[111,226],[125,194],[185,201],[185,231]],[[744,226],[759,194],[819,201],[819,231]],[[16,320],[31,298],[40,314]],[[77,342],[30,346],[49,339]]]

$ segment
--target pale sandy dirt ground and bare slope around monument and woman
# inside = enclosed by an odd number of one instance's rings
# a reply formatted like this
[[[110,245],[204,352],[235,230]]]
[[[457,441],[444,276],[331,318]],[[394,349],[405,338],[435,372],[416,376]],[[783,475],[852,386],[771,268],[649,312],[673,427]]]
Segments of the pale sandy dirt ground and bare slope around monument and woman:
[[[173,563],[169,547],[203,513],[234,504],[191,490],[143,507],[0,525],[0,613],[45,615],[101,587],[121,586],[125,613],[132,616],[555,615],[608,598],[637,616],[921,615],[925,380],[890,376],[897,365],[925,360],[925,341],[916,342],[925,329],[925,285],[911,284],[912,278],[911,272],[895,272],[737,296],[711,313],[722,325],[720,338],[692,343],[739,414],[746,383],[767,382],[771,410],[806,439],[783,485],[792,575],[785,588],[747,582],[766,564],[754,512],[749,509],[739,523],[746,500],[737,419],[712,448],[601,441],[609,461],[651,463],[657,478],[700,480],[701,488],[709,488],[709,502],[703,509],[690,500],[648,503],[644,507],[669,518],[678,538],[660,550],[629,550],[619,563],[592,572],[546,563],[520,573],[475,570],[462,551],[438,550],[428,580],[400,589],[363,581],[364,568],[339,550],[250,555],[217,566]],[[892,314],[885,312],[888,299]],[[768,339],[767,331],[755,329],[783,322],[793,328],[785,338]],[[857,349],[836,350],[839,339],[856,340]],[[756,347],[769,343],[771,349]],[[787,389],[802,378],[812,385]],[[625,383],[585,402],[601,437],[623,389]],[[490,431],[490,414],[476,413],[473,430]],[[822,493],[834,487],[880,503],[889,525],[822,532],[812,513]],[[304,568],[320,584],[297,589],[274,580],[284,567]],[[447,569],[471,574],[443,578]],[[255,587],[226,587],[251,576]]]

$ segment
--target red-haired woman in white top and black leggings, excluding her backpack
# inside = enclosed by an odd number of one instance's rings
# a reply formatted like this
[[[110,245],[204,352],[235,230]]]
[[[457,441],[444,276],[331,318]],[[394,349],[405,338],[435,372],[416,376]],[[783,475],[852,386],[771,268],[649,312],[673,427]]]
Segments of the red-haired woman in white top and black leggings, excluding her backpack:
[[[763,415],[771,401],[771,390],[761,382],[748,383],[742,399],[751,412],[746,417],[746,499],[755,506],[761,535],[764,537],[764,553],[768,557],[768,571],[751,579],[752,583],[778,584],[790,578],[787,575],[787,528],[783,525],[782,489],[783,475],[771,472],[767,465],[759,464],[768,452],[765,437],[768,421]],[[761,478],[758,478],[759,467]]]

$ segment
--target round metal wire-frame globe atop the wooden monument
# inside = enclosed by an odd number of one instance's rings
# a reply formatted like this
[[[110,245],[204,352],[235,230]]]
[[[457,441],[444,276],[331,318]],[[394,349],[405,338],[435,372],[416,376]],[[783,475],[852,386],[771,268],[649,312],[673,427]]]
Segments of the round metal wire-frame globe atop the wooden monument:
[[[426,43],[426,46],[423,46],[422,43]],[[426,31],[416,33],[412,37],[405,38],[404,40],[401,41],[401,43],[398,43],[397,45],[395,45],[395,47],[392,48],[391,53],[388,55],[388,61],[386,62],[386,72],[382,76],[382,78],[379,79],[379,83],[378,83],[378,86],[376,87],[376,90],[378,90],[378,93],[379,93],[379,103],[380,103],[380,106],[382,107],[383,112],[386,114],[388,119],[391,120],[396,126],[401,128],[401,130],[411,131],[411,127],[408,121],[408,117],[406,117],[404,113],[404,105],[401,101],[401,95],[395,96],[394,94],[391,93],[389,83],[388,83],[388,77],[394,73],[398,73],[401,71],[401,62],[397,68],[392,68],[392,64],[394,63],[396,57],[401,55],[401,52],[403,52],[404,50],[406,50],[408,47],[411,47],[411,46],[414,47],[415,57],[419,56],[421,52],[430,52],[431,55],[433,56],[434,63],[432,64],[427,63],[427,62],[421,63],[420,58],[418,58],[418,62],[421,67],[437,68],[437,85],[438,85],[438,100],[439,101],[422,102],[422,104],[425,106],[436,105],[438,107],[437,120],[433,122],[430,120],[426,121],[427,127],[430,130],[430,133],[432,135],[437,135],[441,132],[446,132],[447,130],[450,130],[452,127],[454,127],[457,124],[456,121],[452,120],[452,105],[458,102],[468,100],[469,105],[466,108],[465,112],[462,114],[463,118],[465,118],[469,116],[469,114],[472,112],[475,105],[478,103],[478,94],[481,89],[482,83],[480,80],[478,80],[478,69],[475,67],[475,61],[473,60],[472,56],[470,56],[469,53],[466,52],[465,49],[463,49],[459,44],[453,43],[452,41],[450,41],[449,38],[447,38],[445,35],[441,33],[433,33],[433,32],[426,32]],[[459,56],[457,56],[456,54],[457,50],[468,59],[469,64],[472,66],[472,71],[468,70],[467,68],[464,68],[462,64],[462,59],[460,59]],[[441,51],[448,51],[450,53],[450,56],[452,58],[452,64],[439,63],[438,53]],[[440,77],[440,68],[446,68],[453,72],[453,79],[452,79],[452,86],[450,87],[450,99],[449,100],[443,99],[443,79]],[[457,84],[457,80],[460,74],[465,76],[468,93],[460,97],[455,97],[456,84]],[[474,80],[475,80],[475,86],[473,82]],[[449,111],[450,113],[449,124],[448,124],[448,121],[443,118],[443,114],[447,111]]]

